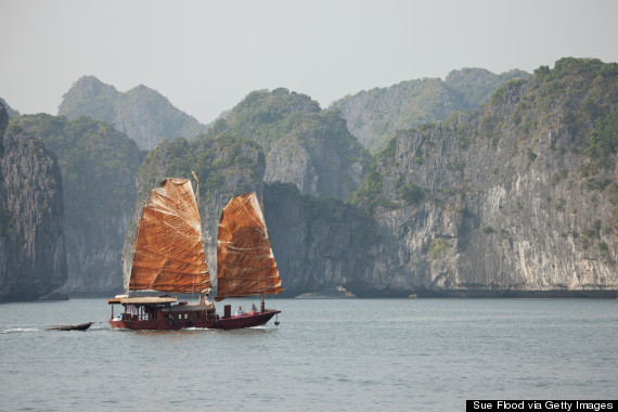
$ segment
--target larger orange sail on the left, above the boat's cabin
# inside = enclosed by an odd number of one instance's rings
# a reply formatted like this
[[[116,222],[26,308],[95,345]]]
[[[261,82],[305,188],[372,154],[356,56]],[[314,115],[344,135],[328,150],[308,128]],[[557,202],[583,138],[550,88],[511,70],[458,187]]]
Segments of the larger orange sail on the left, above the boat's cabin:
[[[191,181],[166,179],[142,209],[129,291],[195,293],[210,287]]]

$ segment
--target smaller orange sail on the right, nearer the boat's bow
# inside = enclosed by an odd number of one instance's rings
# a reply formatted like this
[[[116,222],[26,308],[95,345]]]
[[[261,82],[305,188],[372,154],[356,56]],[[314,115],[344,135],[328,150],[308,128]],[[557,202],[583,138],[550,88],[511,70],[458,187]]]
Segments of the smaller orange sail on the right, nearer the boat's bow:
[[[235,196],[221,214],[216,300],[276,295],[283,288],[255,193]]]

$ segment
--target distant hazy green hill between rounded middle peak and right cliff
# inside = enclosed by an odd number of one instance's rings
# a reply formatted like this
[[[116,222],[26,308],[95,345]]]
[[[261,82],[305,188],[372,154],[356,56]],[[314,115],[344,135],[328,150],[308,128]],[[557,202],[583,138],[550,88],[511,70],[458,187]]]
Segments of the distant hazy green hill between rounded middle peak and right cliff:
[[[446,119],[453,113],[486,103],[506,81],[529,74],[511,70],[501,75],[481,68],[451,72],[438,78],[402,81],[345,96],[330,108],[338,110],[348,129],[373,154],[386,146],[399,129]]]

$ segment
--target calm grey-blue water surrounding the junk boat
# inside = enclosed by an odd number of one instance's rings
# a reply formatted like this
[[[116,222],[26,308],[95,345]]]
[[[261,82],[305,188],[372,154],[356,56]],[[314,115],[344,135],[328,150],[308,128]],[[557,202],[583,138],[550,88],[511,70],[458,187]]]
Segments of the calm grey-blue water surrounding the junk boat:
[[[105,299],[0,305],[0,410],[454,411],[617,394],[618,300],[272,306],[280,326],[131,332],[108,329]],[[88,321],[101,323],[44,330]]]

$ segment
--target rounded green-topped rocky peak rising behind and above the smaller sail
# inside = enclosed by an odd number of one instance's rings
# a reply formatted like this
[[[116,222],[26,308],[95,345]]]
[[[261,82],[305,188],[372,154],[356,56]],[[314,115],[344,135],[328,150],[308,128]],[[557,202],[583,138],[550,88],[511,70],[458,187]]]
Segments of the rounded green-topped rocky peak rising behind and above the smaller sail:
[[[291,182],[302,194],[347,199],[370,164],[338,113],[286,89],[250,93],[209,134],[224,130],[263,149],[265,182]]]

